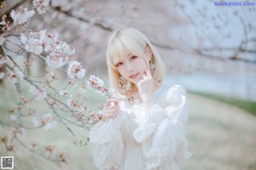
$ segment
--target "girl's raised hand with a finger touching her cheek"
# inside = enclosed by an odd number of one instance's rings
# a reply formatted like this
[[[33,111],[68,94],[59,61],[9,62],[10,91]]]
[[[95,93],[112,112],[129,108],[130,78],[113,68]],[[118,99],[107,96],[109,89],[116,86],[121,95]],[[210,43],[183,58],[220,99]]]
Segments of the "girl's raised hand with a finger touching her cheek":
[[[154,93],[154,79],[149,69],[144,71],[141,77],[142,79],[137,82],[138,93],[143,101],[147,101],[152,99]]]

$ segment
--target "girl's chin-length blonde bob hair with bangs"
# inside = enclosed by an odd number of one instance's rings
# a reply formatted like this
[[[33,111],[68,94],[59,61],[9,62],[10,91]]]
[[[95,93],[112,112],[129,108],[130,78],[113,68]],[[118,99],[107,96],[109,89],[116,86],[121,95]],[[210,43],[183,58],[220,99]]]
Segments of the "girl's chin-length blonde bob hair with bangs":
[[[119,89],[120,74],[119,71],[117,71],[115,64],[118,63],[120,59],[125,57],[125,50],[146,60],[146,48],[150,48],[152,52],[151,63],[155,65],[153,75],[154,81],[163,82],[165,65],[160,58],[160,54],[157,52],[151,42],[148,41],[148,38],[134,28],[125,28],[120,31],[113,31],[113,34],[108,41],[107,65],[110,87],[113,88],[118,94],[126,95],[128,92],[124,94]],[[149,64],[146,64],[149,68]],[[135,84],[131,83],[131,88],[135,89]]]

